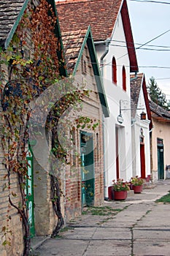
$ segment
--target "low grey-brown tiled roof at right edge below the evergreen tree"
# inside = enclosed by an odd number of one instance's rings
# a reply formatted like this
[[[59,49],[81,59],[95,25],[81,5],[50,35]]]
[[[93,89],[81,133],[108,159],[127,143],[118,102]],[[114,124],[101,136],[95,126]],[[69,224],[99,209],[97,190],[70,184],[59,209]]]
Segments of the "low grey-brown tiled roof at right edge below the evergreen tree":
[[[167,119],[167,121],[170,121],[169,111],[165,110],[164,108],[162,108],[161,106],[159,106],[155,102],[152,102],[152,100],[150,100],[150,110],[153,113],[155,113],[157,116],[160,116],[161,119],[164,118],[164,119]],[[152,114],[152,117],[155,117],[155,115]]]

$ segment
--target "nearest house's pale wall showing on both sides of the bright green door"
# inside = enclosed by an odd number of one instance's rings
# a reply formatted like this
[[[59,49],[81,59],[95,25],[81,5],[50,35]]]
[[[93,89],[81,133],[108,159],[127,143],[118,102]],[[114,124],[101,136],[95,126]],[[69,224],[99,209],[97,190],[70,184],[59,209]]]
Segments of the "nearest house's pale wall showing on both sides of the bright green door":
[[[37,6],[39,1],[32,1],[32,4]],[[33,6],[33,5],[32,5]],[[26,38],[27,42],[26,48],[24,49],[26,58],[30,58],[33,53],[33,45],[31,40],[31,33],[27,31]],[[1,67],[5,70],[5,79],[4,86],[8,81],[9,70],[7,66]],[[1,106],[0,106],[1,111]],[[3,121],[0,121],[3,123]],[[3,154],[0,147],[0,255],[1,256],[14,256],[14,255],[23,255],[23,224],[20,219],[20,214],[15,210],[15,208],[9,206],[8,201],[8,190],[5,189],[8,184],[7,170],[4,169],[2,165]],[[50,176],[49,169],[42,170],[42,167],[39,166],[34,159],[34,214],[35,214],[35,231],[36,235],[49,235],[53,231],[53,227],[56,225],[57,217],[53,212],[53,206],[50,198]],[[41,179],[39,180],[39,175],[41,174]],[[16,194],[16,197],[12,197],[12,202],[18,205],[20,203],[20,189],[18,187],[18,178],[15,173],[11,175],[11,189],[10,191]],[[7,221],[7,217],[11,217]],[[7,226],[8,225],[8,226]],[[12,236],[8,235],[11,246],[2,246],[2,243],[5,240],[4,233],[1,231],[2,227],[8,227],[12,231]]]

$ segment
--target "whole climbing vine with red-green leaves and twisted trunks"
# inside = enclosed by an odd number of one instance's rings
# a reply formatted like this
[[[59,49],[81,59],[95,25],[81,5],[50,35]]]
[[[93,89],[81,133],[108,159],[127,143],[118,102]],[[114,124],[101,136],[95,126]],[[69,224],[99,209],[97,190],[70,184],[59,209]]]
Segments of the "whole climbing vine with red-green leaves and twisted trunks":
[[[4,176],[4,179],[7,179],[7,184],[4,189],[8,190],[9,207],[18,211],[23,222],[24,256],[29,255],[31,249],[26,198],[27,180],[30,178],[27,161],[30,118],[36,116],[37,124],[36,128],[34,127],[34,132],[40,135],[39,124],[42,124],[43,119],[41,113],[45,113],[50,108],[45,122],[45,129],[52,134],[50,153],[56,159],[60,159],[61,163],[70,164],[67,161],[68,151],[62,147],[58,139],[59,121],[67,109],[72,107],[74,112],[80,110],[80,102],[83,97],[89,96],[88,91],[73,86],[72,79],[63,80],[60,76],[59,69],[63,65],[63,56],[61,55],[61,60],[58,61],[57,53],[61,50],[61,44],[55,34],[56,23],[57,19],[53,8],[46,0],[40,0],[37,6],[31,1],[20,20],[9,48],[0,50],[1,146],[4,152],[3,163],[7,170],[7,174]],[[59,80],[63,80],[63,83],[58,83]],[[59,93],[61,97],[55,102],[47,94],[47,103],[42,108],[39,107],[39,112],[36,113],[36,99],[52,85],[54,85],[55,91],[56,89],[59,92],[62,91],[61,94]],[[82,127],[82,129],[85,127],[95,129],[97,125],[90,118],[83,116],[76,118],[74,122],[74,127]],[[70,136],[72,137],[72,132]],[[53,161],[51,168],[55,168]],[[56,236],[63,225],[60,167],[57,168],[57,175],[54,175],[53,171],[50,173],[51,200],[58,217],[52,236]],[[20,195],[17,195],[12,188],[12,173],[18,177]],[[19,203],[15,203],[16,197],[19,198]],[[10,218],[8,210],[7,220]],[[3,227],[2,231],[4,235],[12,234],[9,225]],[[10,240],[6,239],[4,244],[10,244]]]

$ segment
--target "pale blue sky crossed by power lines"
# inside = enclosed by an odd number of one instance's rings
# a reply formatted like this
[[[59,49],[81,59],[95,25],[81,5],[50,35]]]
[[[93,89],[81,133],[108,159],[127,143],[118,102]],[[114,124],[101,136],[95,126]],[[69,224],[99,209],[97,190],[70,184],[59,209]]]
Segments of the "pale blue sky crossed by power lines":
[[[151,77],[155,78],[166,99],[170,99],[170,1],[127,0],[127,3],[139,72],[144,73],[147,84]]]

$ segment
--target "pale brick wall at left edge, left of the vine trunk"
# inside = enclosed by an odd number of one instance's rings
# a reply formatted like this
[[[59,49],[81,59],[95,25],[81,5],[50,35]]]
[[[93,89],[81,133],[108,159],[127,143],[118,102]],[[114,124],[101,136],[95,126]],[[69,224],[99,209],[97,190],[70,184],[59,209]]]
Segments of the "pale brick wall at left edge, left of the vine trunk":
[[[8,69],[4,64],[1,66],[1,69],[4,70],[4,85],[8,80]],[[1,111],[0,106],[0,111]],[[3,120],[0,121],[0,124],[3,125]],[[18,211],[9,205],[8,195],[9,190],[8,187],[8,178],[7,178],[7,170],[2,164],[4,159],[4,154],[2,152],[2,148],[0,147],[0,252],[1,256],[13,256],[13,255],[22,255],[23,252],[23,226],[20,221],[20,216]],[[20,202],[20,189],[18,187],[18,178],[15,173],[12,173],[10,176],[11,184],[10,184],[10,193],[16,195],[12,197],[12,203],[18,205]],[[4,236],[4,232],[2,228],[6,227],[9,231],[7,235]],[[4,246],[2,243],[7,240],[10,241],[11,246]]]

